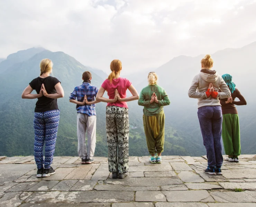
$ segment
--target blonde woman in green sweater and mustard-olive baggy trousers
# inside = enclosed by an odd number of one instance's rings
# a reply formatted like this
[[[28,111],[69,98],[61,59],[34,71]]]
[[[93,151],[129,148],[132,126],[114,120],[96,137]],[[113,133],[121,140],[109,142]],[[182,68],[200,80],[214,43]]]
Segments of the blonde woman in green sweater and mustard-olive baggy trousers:
[[[155,72],[148,74],[149,85],[141,90],[138,100],[138,104],[144,106],[143,126],[151,163],[162,161],[165,119],[163,107],[170,105],[170,99],[165,90],[157,85],[157,78]]]

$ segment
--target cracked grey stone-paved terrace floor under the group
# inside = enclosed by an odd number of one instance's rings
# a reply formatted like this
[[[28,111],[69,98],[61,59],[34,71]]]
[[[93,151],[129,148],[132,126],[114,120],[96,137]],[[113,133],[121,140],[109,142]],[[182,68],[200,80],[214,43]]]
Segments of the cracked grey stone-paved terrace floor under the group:
[[[130,157],[128,176],[112,179],[106,157],[90,165],[54,157],[56,174],[36,178],[33,156],[0,156],[0,206],[256,207],[256,155],[224,161],[222,176],[204,173],[206,156],[162,156],[162,164],[148,159]]]

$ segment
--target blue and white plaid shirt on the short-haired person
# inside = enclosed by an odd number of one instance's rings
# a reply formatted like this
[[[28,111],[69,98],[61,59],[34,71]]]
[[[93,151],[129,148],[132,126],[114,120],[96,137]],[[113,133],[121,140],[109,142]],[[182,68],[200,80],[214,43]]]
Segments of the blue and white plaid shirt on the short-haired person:
[[[82,85],[75,87],[74,91],[70,94],[69,99],[77,99],[77,101],[83,101],[84,96],[87,96],[88,101],[94,101],[98,93],[98,88],[92,86],[90,83],[83,82]],[[86,114],[88,116],[96,116],[95,104],[92,105],[79,105],[76,108],[77,113]]]

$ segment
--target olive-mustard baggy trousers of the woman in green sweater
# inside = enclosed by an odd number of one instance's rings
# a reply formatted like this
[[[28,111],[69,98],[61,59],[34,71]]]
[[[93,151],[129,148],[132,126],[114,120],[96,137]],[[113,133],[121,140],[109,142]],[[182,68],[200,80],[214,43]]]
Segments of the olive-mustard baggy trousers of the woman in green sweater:
[[[149,154],[164,151],[164,111],[155,116],[143,115],[143,125]]]

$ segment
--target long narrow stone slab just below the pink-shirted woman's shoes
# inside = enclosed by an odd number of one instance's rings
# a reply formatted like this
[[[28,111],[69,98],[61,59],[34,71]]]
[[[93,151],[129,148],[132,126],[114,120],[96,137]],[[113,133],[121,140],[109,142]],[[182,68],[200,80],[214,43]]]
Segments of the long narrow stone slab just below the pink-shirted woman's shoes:
[[[157,191],[160,190],[159,187],[129,187],[122,186],[120,184],[116,185],[96,185],[95,190],[112,190],[112,191]]]

